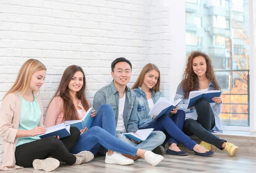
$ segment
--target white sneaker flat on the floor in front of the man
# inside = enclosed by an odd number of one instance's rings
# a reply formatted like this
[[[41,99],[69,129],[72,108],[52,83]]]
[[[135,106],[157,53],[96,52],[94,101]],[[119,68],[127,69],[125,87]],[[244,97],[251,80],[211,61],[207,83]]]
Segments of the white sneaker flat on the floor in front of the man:
[[[111,156],[108,156],[108,152],[107,152],[105,163],[128,165],[128,164],[133,164],[134,160],[129,159],[123,156],[121,153],[116,153],[116,152],[114,152]]]

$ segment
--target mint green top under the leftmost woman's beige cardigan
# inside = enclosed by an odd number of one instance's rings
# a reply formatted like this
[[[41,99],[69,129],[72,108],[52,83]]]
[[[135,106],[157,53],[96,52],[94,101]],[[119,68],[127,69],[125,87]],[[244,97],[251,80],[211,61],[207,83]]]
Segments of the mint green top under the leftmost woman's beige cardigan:
[[[28,102],[20,95],[20,101],[21,112],[19,130],[32,130],[33,128],[38,127],[41,119],[41,110],[35,96],[33,102]],[[16,147],[38,139],[41,139],[38,135],[18,138]]]

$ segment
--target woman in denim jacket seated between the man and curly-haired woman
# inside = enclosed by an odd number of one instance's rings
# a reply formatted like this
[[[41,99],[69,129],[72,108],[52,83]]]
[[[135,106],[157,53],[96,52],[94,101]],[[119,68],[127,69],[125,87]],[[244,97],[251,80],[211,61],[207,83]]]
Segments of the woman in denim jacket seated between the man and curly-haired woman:
[[[154,106],[155,102],[163,96],[159,91],[160,88],[160,71],[154,64],[147,64],[143,67],[140,75],[132,87],[137,95],[138,108],[137,115],[139,117],[139,128],[154,128],[154,130],[163,131],[166,134],[166,140],[163,146],[169,140],[170,146],[166,154],[177,156],[184,156],[188,153],[181,151],[178,147],[179,143],[183,143],[189,150],[194,150],[195,155],[210,156],[212,151],[206,150],[204,147],[198,145],[195,141],[186,136],[182,132],[185,112],[174,108],[169,115],[161,116],[160,118],[152,121],[157,115],[151,117],[148,115],[150,109]]]

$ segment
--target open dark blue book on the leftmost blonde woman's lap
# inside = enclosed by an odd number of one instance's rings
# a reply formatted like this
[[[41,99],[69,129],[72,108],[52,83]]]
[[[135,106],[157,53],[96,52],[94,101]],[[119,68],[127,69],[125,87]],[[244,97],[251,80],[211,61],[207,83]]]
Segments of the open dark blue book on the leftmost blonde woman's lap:
[[[39,135],[39,137],[46,138],[49,136],[59,136],[60,138],[70,135],[70,125],[66,126],[63,122],[46,129],[46,133]]]

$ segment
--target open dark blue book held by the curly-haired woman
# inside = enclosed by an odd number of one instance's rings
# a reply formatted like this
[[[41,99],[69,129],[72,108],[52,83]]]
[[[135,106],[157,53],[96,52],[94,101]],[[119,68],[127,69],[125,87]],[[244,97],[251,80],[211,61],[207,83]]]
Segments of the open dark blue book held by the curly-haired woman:
[[[213,103],[212,98],[219,96],[221,96],[221,91],[219,90],[210,90],[207,92],[191,91],[189,93],[188,109],[194,107],[196,105],[196,102],[201,98],[207,99],[209,103]]]

